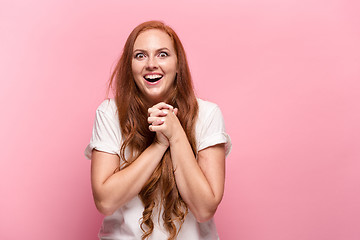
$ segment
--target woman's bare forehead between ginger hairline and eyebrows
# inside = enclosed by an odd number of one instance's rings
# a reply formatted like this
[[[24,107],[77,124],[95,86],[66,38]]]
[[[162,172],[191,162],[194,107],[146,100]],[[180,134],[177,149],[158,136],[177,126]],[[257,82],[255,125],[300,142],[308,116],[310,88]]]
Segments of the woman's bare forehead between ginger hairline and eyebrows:
[[[168,48],[174,50],[174,44],[170,36],[159,29],[146,30],[139,34],[134,43],[134,50],[157,50],[161,48]]]

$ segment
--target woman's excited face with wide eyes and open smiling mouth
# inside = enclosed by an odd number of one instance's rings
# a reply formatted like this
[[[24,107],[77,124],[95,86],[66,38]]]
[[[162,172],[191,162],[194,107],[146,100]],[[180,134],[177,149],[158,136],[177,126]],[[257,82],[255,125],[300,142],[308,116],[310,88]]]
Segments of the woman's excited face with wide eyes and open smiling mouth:
[[[164,101],[177,72],[170,36],[158,29],[140,33],[134,43],[131,67],[136,85],[148,100],[153,104]]]

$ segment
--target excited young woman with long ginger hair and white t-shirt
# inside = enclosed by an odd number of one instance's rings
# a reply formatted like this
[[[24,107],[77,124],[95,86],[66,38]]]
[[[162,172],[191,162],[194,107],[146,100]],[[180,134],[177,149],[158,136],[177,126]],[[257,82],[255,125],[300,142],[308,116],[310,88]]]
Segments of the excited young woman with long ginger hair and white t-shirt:
[[[96,111],[91,184],[100,239],[218,239],[231,148],[219,107],[194,94],[184,48],[158,21],[137,26]]]

